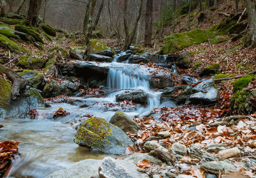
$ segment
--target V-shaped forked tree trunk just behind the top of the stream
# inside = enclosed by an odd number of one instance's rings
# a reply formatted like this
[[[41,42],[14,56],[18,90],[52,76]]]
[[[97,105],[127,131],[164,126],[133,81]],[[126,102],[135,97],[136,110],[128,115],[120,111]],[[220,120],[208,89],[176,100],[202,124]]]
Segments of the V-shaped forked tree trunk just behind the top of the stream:
[[[140,20],[140,17],[141,17],[141,11],[142,11],[142,5],[143,5],[143,0],[140,0],[140,10],[139,10],[139,15],[136,19],[136,21],[134,22],[134,25],[133,25],[133,29],[132,29],[132,32],[131,34],[129,34],[129,28],[128,28],[128,25],[127,25],[127,0],[125,0],[125,3],[124,3],[124,27],[125,27],[125,43],[124,43],[124,50],[128,50],[131,43],[132,43],[132,40],[135,36],[135,33],[136,33],[136,29],[137,29],[137,26],[138,26],[138,22]]]

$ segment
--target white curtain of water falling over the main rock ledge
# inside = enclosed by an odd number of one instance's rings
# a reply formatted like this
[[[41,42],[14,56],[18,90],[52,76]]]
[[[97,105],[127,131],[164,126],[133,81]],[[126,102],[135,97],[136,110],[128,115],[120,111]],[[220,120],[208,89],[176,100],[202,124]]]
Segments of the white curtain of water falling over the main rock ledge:
[[[149,81],[132,76],[124,71],[110,69],[108,73],[109,89],[145,89],[149,90]]]

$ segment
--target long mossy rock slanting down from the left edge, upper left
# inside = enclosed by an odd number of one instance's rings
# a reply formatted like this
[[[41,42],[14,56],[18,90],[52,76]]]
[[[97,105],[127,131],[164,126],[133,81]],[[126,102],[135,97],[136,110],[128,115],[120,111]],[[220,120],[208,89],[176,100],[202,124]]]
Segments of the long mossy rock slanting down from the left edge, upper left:
[[[9,38],[4,36],[3,34],[0,34],[0,46],[3,47],[3,48],[8,48],[12,52],[18,52],[18,53],[25,53],[26,52],[26,50],[24,48],[20,47],[20,45],[18,45],[14,41],[10,40]]]

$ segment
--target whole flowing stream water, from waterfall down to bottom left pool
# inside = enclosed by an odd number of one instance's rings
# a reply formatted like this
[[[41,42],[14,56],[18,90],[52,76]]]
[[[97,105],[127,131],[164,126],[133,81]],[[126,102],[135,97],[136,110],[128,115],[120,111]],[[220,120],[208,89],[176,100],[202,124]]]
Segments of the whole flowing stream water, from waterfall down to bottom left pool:
[[[161,60],[166,61],[165,58]],[[115,95],[124,93],[124,91],[118,91],[120,89],[141,89],[148,95],[147,107],[134,108],[125,112],[131,117],[160,107],[161,93],[150,90],[148,76],[143,75],[143,72],[134,72],[134,68],[129,68],[133,64],[122,64],[124,66],[120,64],[121,68],[109,70],[108,88],[116,92],[104,98],[70,98],[68,100],[72,100],[72,102],[54,103],[50,108],[38,108],[39,118],[36,120],[19,118],[1,120],[0,123],[4,125],[4,128],[0,129],[0,141],[20,142],[20,156],[15,161],[10,176],[45,177],[51,172],[67,168],[82,159],[102,159],[107,156],[106,154],[92,153],[89,149],[74,144],[76,130],[67,122],[79,119],[84,114],[104,117],[109,121],[119,108],[117,106],[109,109],[102,104],[116,103]],[[82,104],[89,107],[79,107]],[[167,106],[174,107],[175,105],[170,102],[167,103]],[[70,115],[53,120],[52,112],[60,107],[70,112]]]

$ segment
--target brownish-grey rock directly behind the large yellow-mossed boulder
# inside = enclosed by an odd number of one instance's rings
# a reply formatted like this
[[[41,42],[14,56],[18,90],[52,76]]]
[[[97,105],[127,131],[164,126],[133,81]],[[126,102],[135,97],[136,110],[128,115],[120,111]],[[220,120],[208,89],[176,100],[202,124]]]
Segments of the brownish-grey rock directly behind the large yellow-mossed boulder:
[[[137,134],[138,130],[140,130],[140,126],[133,121],[131,117],[124,114],[124,112],[116,112],[115,115],[111,117],[109,122],[123,130],[125,133],[130,132]]]

